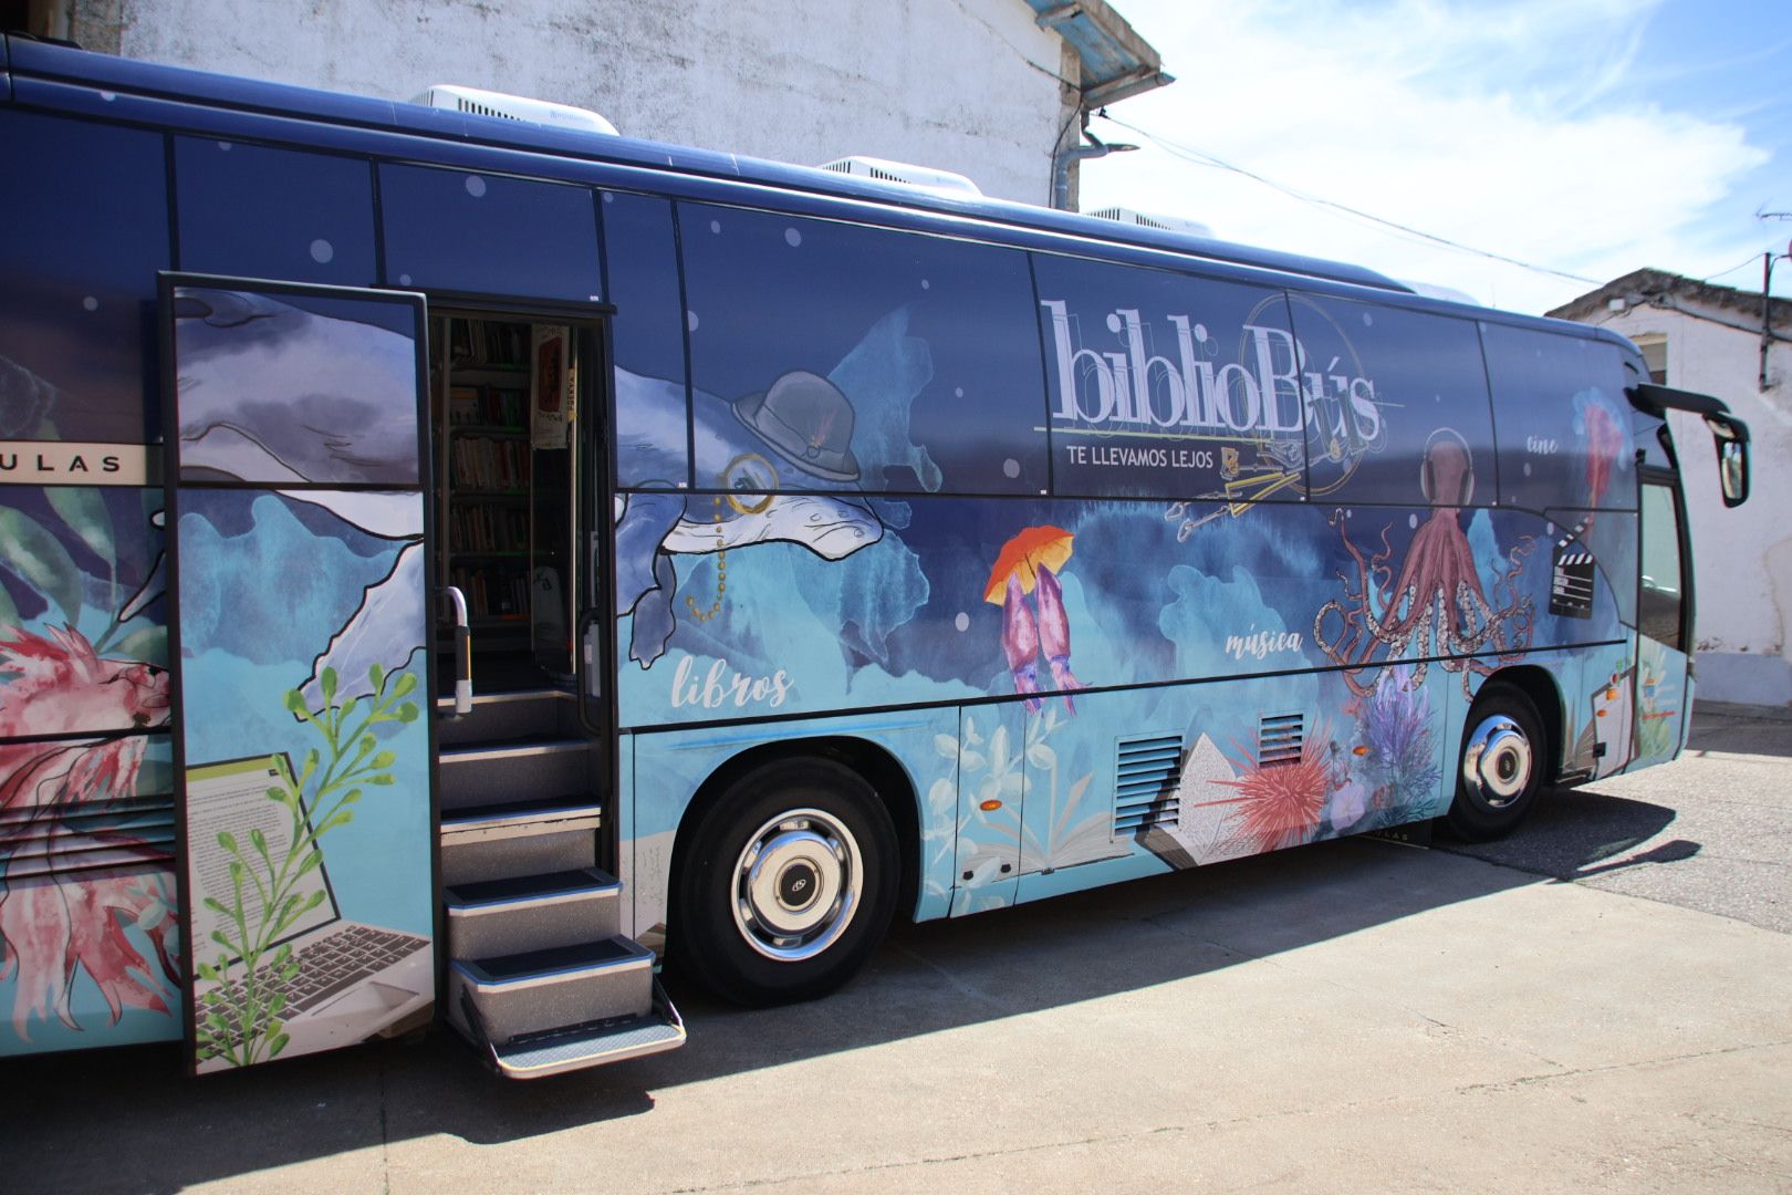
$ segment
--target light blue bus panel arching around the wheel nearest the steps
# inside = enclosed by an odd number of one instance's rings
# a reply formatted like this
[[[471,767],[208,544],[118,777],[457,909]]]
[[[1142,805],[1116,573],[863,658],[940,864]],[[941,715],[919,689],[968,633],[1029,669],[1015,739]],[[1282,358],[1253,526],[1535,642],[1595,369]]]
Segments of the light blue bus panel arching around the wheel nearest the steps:
[[[921,876],[916,921],[946,916],[953,889],[959,817],[959,711],[903,709],[880,715],[814,718],[760,726],[631,735],[633,772],[620,801],[631,808],[633,833],[622,837],[622,869],[631,876],[636,941],[659,950],[667,933],[672,851],[679,822],[702,783],[744,752],[780,752],[799,740],[853,738],[894,758],[918,803]],[[633,785],[629,783],[633,779]],[[633,856],[633,858],[631,858]]]

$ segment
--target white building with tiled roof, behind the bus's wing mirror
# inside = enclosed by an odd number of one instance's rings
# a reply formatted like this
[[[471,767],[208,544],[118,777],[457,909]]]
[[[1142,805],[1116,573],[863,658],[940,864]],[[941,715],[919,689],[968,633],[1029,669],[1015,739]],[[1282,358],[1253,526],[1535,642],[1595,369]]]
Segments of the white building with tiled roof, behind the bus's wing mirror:
[[[1548,314],[1629,337],[1658,382],[1713,394],[1749,425],[1754,489],[1731,511],[1711,435],[1670,412],[1692,518],[1699,697],[1792,702],[1792,301],[1763,310],[1758,290],[1636,271]]]

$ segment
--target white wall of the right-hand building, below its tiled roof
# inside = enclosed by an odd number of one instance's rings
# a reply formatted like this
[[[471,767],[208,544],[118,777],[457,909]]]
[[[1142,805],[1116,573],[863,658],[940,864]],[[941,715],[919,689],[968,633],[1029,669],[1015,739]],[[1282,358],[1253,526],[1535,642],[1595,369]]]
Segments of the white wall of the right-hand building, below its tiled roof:
[[[1733,308],[1704,314],[1710,319],[1633,306],[1588,322],[1633,340],[1665,335],[1667,383],[1715,394],[1749,425],[1754,491],[1731,511],[1719,496],[1711,434],[1697,417],[1670,412],[1692,512],[1699,697],[1792,704],[1792,346],[1774,346],[1762,391],[1760,324],[1751,331],[1711,322],[1751,322]]]

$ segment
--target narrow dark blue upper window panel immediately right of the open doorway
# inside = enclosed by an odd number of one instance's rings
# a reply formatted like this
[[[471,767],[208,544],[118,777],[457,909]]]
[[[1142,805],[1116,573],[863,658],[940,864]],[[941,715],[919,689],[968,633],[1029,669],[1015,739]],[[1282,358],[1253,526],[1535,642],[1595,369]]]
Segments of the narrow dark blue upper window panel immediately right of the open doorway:
[[[685,308],[665,199],[604,192],[604,269],[616,364],[616,486],[690,484]],[[658,401],[656,401],[658,400]]]

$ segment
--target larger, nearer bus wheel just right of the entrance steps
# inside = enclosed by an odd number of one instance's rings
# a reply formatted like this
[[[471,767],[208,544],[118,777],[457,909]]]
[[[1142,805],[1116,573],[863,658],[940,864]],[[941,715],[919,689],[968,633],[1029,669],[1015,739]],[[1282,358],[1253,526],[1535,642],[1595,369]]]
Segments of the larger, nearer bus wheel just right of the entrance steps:
[[[896,871],[896,826],[858,772],[819,758],[767,763],[690,831],[672,960],[735,1003],[826,996],[883,941]]]

